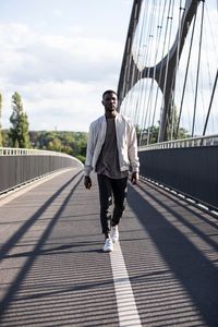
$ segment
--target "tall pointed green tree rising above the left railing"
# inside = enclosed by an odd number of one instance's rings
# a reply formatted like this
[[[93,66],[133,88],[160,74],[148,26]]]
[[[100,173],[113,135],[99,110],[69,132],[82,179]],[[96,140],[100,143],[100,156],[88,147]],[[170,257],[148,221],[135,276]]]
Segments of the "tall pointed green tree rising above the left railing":
[[[12,96],[12,114],[10,122],[12,128],[10,129],[10,140],[13,147],[28,148],[31,147],[28,135],[28,118],[23,110],[22,99],[19,93],[14,93]]]

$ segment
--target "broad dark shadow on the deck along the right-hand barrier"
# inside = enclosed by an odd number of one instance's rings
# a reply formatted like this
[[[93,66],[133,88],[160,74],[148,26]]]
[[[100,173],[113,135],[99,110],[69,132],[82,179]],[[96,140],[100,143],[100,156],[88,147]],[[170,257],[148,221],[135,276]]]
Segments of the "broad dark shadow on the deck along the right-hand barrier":
[[[140,192],[137,192],[140,191]],[[140,194],[141,193],[141,194]],[[145,197],[144,197],[145,196]],[[150,204],[146,198],[150,198]],[[172,215],[178,223],[186,225],[180,213],[172,207],[172,201],[166,203],[166,197],[156,196],[145,187],[129,187],[128,202],[141,223],[155,242],[162,258],[170,267],[175,278],[181,282],[193,303],[198,307],[207,326],[218,326],[218,274],[203,252],[172,223],[167,215]],[[161,207],[161,209],[156,209]],[[177,207],[177,206],[175,206]],[[146,216],[145,216],[146,213]],[[189,227],[191,227],[189,225]],[[194,226],[193,232],[208,241],[217,250],[215,242],[198,231]]]

